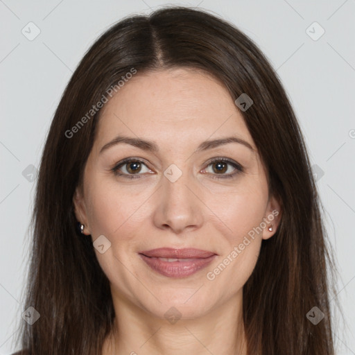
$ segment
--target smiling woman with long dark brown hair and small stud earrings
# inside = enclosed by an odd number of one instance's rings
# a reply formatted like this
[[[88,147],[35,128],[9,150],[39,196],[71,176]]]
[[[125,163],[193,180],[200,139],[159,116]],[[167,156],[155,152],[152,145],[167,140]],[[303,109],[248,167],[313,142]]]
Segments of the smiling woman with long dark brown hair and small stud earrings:
[[[226,21],[164,8],[112,26],[65,89],[37,184],[25,354],[334,354],[304,140]]]

